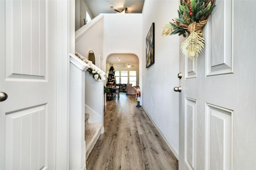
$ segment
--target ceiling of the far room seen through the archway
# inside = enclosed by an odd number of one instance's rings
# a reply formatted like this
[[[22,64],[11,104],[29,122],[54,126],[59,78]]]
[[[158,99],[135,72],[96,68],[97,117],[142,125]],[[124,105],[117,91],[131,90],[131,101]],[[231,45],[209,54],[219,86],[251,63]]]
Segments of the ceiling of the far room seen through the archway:
[[[118,59],[121,58],[121,61],[118,61]],[[112,63],[112,64],[138,64],[139,59],[137,55],[134,54],[111,54],[107,58],[107,63]]]

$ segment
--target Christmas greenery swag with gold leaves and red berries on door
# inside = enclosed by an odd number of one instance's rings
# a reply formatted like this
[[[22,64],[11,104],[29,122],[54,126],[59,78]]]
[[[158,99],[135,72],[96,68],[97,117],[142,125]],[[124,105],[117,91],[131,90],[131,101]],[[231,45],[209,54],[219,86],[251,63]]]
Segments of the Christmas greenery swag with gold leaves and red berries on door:
[[[178,34],[188,38],[180,45],[182,53],[192,61],[204,49],[202,28],[215,7],[215,0],[180,0],[179,18],[164,25],[162,36]]]

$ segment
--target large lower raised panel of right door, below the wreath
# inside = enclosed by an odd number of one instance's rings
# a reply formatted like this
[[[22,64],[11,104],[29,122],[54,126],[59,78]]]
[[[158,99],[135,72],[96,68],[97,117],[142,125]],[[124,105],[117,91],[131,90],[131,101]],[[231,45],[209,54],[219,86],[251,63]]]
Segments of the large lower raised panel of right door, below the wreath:
[[[229,109],[206,104],[206,169],[231,169],[232,115]]]

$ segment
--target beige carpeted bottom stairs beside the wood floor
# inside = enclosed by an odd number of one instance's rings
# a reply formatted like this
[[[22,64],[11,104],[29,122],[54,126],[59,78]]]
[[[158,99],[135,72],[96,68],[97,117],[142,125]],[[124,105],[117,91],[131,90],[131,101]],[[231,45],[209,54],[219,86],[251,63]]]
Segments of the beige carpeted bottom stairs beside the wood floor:
[[[90,115],[85,113],[85,133],[84,133],[84,140],[85,140],[85,150],[86,150],[86,160],[94,148],[98,138],[100,137],[100,130],[102,129],[102,123],[88,123]]]

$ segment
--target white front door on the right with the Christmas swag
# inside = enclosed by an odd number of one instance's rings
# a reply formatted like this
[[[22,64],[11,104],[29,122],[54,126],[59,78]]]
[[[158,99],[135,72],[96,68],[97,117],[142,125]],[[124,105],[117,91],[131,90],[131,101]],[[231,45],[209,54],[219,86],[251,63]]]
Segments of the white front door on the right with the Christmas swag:
[[[180,170],[256,167],[255,6],[217,0],[204,52],[194,62],[180,55]]]

